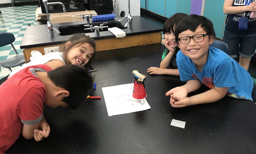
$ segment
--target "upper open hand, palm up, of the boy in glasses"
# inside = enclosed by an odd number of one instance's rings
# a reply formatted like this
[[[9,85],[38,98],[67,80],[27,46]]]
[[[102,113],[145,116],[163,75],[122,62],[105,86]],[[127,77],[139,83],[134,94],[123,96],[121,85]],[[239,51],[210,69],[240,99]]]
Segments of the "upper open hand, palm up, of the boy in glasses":
[[[170,91],[168,91],[166,96],[171,96],[170,98],[170,104],[174,104],[176,101],[182,101],[185,99],[188,95],[188,89],[185,87],[176,87],[172,88]],[[172,106],[173,107],[173,106]]]

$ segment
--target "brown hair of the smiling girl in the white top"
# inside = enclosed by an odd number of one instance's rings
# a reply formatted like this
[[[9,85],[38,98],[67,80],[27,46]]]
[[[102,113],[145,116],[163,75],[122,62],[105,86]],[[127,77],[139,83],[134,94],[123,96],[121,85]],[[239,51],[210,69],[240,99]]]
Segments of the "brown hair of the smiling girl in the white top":
[[[92,55],[91,59],[88,61],[87,64],[84,65],[84,67],[86,68],[86,70],[90,70],[92,69],[93,70],[93,67],[92,67],[92,60],[94,59],[95,57],[95,53],[96,53],[96,43],[94,42],[94,39],[92,39],[90,36],[87,36],[85,34],[75,34],[73,36],[71,36],[66,42],[65,44],[70,41],[71,42],[71,45],[66,49],[66,46],[64,45],[63,47],[63,51],[64,52],[64,57],[66,58],[67,57],[67,54],[68,54],[68,51],[74,47],[74,46],[78,46],[80,44],[83,44],[83,43],[89,43],[93,48],[94,48],[94,54]]]

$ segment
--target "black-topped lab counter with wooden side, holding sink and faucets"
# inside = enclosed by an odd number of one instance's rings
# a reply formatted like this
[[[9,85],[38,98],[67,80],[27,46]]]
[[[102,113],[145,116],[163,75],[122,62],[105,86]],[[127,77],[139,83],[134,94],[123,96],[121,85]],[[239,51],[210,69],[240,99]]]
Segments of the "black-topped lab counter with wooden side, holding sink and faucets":
[[[90,20],[89,24],[96,24],[98,22],[118,22],[119,19],[122,19],[122,17],[116,17],[115,19],[103,21]],[[100,31],[100,36],[95,36],[94,32],[88,32],[85,33],[85,35],[88,35],[95,40],[97,51],[161,43],[161,31],[163,27],[156,25],[140,16],[133,16],[132,19],[132,24],[128,24],[126,29],[122,29],[126,33],[126,36],[124,38],[116,38],[116,36],[109,31]],[[120,21],[122,25],[125,25],[126,22],[126,19]],[[81,24],[85,24],[85,20],[53,25],[55,25],[56,27],[68,27],[71,25]],[[108,26],[108,24],[105,26]],[[53,28],[58,30],[58,28],[56,27]],[[28,62],[30,61],[29,58],[31,57],[31,51],[37,50],[44,54],[44,48],[52,46],[59,46],[61,50],[63,47],[63,43],[67,41],[71,36],[72,35],[61,36],[60,33],[57,31],[53,31],[53,33],[48,33],[47,26],[45,24],[28,26],[21,41],[20,49],[24,49],[24,57],[26,62]]]

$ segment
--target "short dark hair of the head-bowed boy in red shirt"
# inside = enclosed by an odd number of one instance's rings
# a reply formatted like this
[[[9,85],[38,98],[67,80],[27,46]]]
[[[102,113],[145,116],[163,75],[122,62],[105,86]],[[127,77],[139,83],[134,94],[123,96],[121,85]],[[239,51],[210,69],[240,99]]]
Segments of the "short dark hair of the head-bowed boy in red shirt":
[[[91,75],[84,67],[78,65],[58,67],[47,72],[47,76],[57,87],[69,91],[69,96],[61,101],[66,102],[73,109],[86,99],[92,89]]]

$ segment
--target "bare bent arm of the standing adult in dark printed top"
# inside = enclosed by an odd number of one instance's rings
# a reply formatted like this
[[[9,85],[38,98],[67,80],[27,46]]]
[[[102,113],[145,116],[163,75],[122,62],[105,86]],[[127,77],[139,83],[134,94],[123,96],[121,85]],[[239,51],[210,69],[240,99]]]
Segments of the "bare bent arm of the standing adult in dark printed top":
[[[245,1],[246,3],[247,1]],[[224,14],[236,14],[245,11],[256,11],[256,1],[251,3],[250,5],[244,6],[232,6],[233,0],[225,0],[223,5],[223,13]]]

